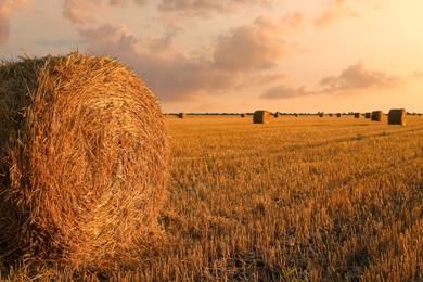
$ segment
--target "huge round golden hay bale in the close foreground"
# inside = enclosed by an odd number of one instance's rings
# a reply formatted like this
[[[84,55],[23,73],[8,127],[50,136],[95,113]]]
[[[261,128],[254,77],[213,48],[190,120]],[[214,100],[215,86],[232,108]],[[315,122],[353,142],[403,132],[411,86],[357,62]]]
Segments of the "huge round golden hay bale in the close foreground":
[[[137,259],[166,198],[153,93],[110,57],[0,66],[0,257],[84,269]]]

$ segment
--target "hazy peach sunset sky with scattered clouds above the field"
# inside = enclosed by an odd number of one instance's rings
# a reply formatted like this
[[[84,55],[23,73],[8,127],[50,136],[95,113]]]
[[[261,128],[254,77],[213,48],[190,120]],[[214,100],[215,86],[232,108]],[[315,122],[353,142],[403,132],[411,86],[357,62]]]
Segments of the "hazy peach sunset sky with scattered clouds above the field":
[[[422,0],[0,0],[0,59],[107,55],[164,112],[423,112]]]

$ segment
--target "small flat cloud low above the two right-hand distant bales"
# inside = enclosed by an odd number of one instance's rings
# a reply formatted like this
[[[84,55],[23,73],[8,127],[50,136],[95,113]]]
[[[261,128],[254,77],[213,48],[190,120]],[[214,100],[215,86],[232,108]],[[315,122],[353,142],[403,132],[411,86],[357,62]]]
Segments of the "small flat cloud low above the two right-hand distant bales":
[[[386,89],[405,82],[398,76],[377,70],[367,70],[362,63],[348,66],[338,76],[328,76],[321,79],[320,85],[328,92],[345,92],[362,89]]]

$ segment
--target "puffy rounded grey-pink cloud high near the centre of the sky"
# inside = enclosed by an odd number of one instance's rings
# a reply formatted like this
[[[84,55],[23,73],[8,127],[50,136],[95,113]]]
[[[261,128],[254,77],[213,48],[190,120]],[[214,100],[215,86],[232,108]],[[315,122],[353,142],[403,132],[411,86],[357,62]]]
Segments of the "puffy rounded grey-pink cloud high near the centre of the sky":
[[[275,25],[258,17],[254,25],[236,27],[217,39],[215,66],[232,72],[271,69],[286,53]]]

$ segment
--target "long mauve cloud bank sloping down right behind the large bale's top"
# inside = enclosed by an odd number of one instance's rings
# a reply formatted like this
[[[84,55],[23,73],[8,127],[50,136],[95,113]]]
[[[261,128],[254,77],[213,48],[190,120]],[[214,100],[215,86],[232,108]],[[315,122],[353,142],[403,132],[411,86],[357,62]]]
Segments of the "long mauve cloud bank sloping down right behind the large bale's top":
[[[213,62],[204,57],[190,56],[170,47],[165,55],[149,46],[142,48],[125,26],[80,28],[79,34],[90,52],[118,57],[133,67],[156,97],[167,102],[195,100],[201,92],[217,93],[236,84],[236,76],[216,69]],[[156,40],[151,44],[157,44]]]

